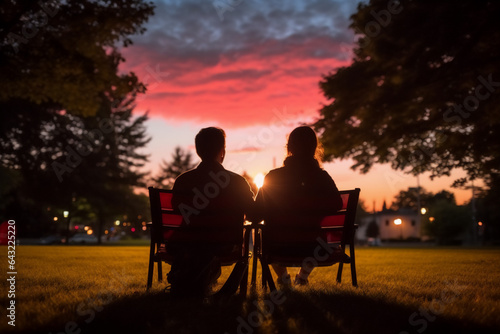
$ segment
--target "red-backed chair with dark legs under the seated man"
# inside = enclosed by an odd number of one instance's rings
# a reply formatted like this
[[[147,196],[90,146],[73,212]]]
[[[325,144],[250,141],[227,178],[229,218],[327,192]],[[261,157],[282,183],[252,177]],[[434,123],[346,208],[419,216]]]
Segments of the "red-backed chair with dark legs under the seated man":
[[[151,205],[151,245],[149,252],[149,269],[147,289],[153,283],[154,264],[157,264],[158,281],[162,281],[162,262],[172,264],[174,256],[167,249],[169,243],[196,243],[207,242],[217,245],[228,245],[230,252],[218,254],[223,266],[236,264],[221,292],[233,289],[239,284],[240,294],[246,294],[248,280],[248,243],[250,224],[244,221],[235,221],[231,208],[204,212],[190,217],[187,224],[183,216],[172,207],[172,191],[149,187],[149,200]],[[219,208],[225,205],[224,199],[218,199]],[[217,204],[217,203],[216,203]],[[217,206],[217,205],[216,205]],[[228,229],[227,226],[234,226]],[[237,286],[236,286],[237,289]]]

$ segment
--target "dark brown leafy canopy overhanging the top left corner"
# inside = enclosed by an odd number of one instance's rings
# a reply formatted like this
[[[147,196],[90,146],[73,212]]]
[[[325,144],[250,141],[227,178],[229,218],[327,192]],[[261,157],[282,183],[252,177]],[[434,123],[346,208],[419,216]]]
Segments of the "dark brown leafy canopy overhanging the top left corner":
[[[13,1],[0,7],[0,103],[95,115],[110,93],[144,86],[119,73],[119,48],[142,33],[153,13],[143,0]],[[2,106],[1,119],[15,113]]]

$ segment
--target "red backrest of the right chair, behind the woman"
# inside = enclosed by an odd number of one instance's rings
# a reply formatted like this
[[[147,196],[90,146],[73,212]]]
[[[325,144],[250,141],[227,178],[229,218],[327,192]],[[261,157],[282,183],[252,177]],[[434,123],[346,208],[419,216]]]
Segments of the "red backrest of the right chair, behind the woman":
[[[349,244],[353,240],[355,232],[354,221],[359,192],[359,188],[340,191],[342,209],[334,214],[291,211],[286,215],[274,216],[271,221],[266,222],[268,229],[267,233],[264,233],[264,239],[267,239],[265,242],[300,244],[311,243],[321,237],[328,243]],[[299,201],[307,203],[310,199],[304,198],[303,200],[299,199]],[[306,205],[306,207],[309,206]],[[334,230],[329,229],[329,227],[343,228]]]

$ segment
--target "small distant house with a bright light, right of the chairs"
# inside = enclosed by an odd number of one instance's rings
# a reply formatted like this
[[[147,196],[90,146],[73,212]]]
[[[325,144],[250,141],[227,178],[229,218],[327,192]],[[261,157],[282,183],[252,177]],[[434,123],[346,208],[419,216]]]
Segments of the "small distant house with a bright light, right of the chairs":
[[[384,206],[381,211],[372,213],[362,219],[362,223],[356,233],[359,241],[367,241],[366,229],[371,222],[375,222],[379,228],[379,239],[384,240],[407,240],[422,239],[422,226],[420,215],[416,210],[401,209],[392,210]]]

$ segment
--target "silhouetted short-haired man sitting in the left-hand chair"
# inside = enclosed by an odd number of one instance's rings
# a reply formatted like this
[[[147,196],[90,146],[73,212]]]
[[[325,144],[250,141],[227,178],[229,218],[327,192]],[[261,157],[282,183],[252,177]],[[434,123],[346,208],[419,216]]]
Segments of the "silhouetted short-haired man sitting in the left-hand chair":
[[[172,205],[183,217],[183,228],[172,236],[167,251],[176,258],[168,274],[172,292],[199,296],[220,275],[219,257],[241,253],[243,222],[253,206],[253,193],[243,177],[222,166],[222,129],[202,129],[195,145],[202,161],[174,183]]]

